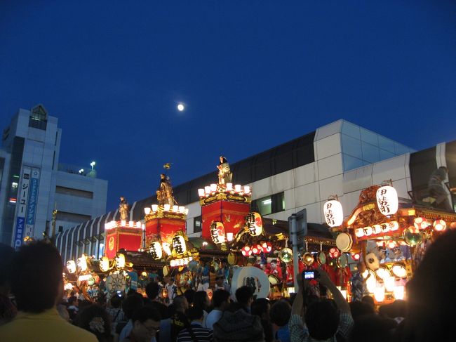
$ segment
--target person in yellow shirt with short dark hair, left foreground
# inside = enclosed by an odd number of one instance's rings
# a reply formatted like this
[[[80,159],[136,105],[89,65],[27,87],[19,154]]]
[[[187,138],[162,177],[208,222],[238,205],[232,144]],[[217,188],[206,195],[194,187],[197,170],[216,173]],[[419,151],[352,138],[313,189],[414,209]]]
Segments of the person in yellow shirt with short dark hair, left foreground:
[[[62,258],[51,244],[34,242],[20,248],[11,264],[11,290],[19,313],[0,327],[1,341],[98,341],[60,317],[56,305],[63,294],[62,272]]]

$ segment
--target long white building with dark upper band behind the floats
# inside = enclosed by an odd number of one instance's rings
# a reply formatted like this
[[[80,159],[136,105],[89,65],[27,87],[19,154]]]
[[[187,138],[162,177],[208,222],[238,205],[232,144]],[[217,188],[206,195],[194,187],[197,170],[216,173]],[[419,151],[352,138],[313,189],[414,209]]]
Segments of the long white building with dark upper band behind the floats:
[[[305,208],[307,221],[323,223],[323,204],[328,197],[337,195],[348,216],[358,203],[361,190],[384,180],[392,180],[398,196],[411,201],[413,191],[427,188],[432,171],[448,166],[449,182],[454,186],[456,141],[415,152],[373,131],[339,120],[230,166],[233,183],[252,187],[253,210],[269,218],[287,220],[291,213]],[[177,202],[189,208],[189,236],[201,235],[198,189],[216,182],[212,172],[174,188]],[[142,220],[144,207],[154,203],[156,196],[133,202],[130,220]],[[119,219],[117,211],[58,235],[57,246],[63,260],[82,253],[100,256],[105,223],[113,219]]]

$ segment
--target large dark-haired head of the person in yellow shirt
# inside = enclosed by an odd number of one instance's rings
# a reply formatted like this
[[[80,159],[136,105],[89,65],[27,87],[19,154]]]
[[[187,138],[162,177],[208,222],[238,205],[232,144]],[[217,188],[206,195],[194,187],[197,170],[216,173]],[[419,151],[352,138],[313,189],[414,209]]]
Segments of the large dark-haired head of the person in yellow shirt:
[[[62,272],[62,258],[51,244],[35,242],[22,246],[11,263],[11,291],[18,310],[42,313],[53,308],[62,298]]]

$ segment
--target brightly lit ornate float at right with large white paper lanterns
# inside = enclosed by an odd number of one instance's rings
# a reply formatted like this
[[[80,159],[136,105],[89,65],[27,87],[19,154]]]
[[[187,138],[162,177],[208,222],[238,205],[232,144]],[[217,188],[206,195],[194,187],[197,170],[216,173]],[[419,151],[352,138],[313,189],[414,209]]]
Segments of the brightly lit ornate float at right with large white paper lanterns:
[[[358,205],[345,220],[337,199],[326,202],[323,210],[340,251],[364,261],[362,277],[377,304],[403,299],[405,284],[427,246],[456,227],[456,213],[399,202],[391,181],[361,191]]]

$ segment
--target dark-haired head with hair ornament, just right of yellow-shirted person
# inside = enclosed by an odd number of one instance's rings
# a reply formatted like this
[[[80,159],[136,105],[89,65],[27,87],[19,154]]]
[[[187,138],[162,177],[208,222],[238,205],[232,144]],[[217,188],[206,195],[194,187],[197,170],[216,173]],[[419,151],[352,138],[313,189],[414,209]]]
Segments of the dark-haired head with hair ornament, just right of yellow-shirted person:
[[[111,320],[98,304],[88,305],[76,317],[76,325],[97,336],[99,342],[110,341]]]

